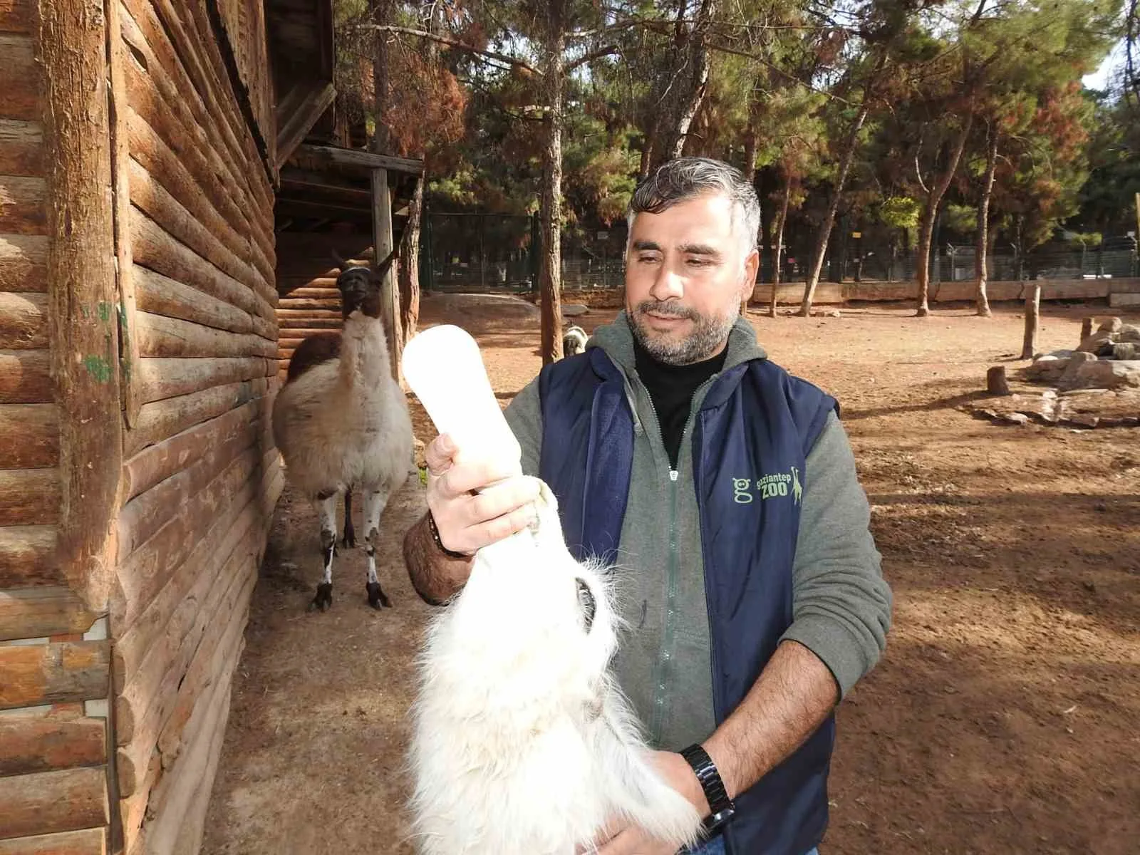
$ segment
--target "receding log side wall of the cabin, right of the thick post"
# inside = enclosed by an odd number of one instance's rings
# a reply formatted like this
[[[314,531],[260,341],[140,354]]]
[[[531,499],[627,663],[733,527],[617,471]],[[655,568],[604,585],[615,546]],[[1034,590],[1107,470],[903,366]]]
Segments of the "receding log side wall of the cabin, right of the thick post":
[[[111,6],[128,423],[109,602],[115,809],[124,853],[165,855],[201,839],[284,484],[269,431],[274,190],[256,123],[269,74],[260,14]],[[227,26],[253,40],[245,79]]]

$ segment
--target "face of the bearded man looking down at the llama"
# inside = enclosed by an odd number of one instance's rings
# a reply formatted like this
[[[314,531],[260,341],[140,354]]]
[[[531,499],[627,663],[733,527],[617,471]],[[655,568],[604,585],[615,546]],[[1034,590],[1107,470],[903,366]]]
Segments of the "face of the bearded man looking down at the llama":
[[[719,194],[634,218],[626,252],[626,314],[657,360],[689,365],[720,350],[751,293],[759,253],[744,252],[732,203]]]

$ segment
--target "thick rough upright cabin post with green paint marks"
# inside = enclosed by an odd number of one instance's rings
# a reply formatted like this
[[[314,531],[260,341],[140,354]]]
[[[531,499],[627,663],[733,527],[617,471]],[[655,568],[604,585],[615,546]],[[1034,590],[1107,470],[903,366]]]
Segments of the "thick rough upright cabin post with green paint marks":
[[[59,409],[57,560],[100,613],[114,576],[123,462],[119,295],[103,3],[41,0],[51,375]]]

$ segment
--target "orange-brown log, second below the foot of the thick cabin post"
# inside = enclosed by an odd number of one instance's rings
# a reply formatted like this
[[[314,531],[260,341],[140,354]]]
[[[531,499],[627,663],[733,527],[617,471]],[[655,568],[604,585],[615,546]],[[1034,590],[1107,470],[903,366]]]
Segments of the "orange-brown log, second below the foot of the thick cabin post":
[[[106,698],[109,657],[105,641],[0,645],[0,709]]]

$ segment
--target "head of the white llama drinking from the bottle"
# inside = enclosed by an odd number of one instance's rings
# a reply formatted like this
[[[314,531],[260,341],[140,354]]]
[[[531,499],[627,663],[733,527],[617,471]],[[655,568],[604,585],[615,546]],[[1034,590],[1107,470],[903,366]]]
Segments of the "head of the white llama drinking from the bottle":
[[[487,716],[504,738],[596,717],[617,646],[602,568],[567,549],[546,484],[535,504],[534,526],[475,555],[432,645],[448,651],[432,670],[453,690],[453,714]]]

